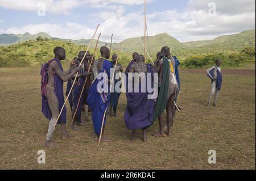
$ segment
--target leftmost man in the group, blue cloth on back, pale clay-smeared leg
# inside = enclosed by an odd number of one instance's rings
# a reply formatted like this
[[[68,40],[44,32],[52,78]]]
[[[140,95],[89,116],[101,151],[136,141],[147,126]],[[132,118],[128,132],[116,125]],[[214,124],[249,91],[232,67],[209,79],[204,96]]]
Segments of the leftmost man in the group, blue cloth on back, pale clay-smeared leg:
[[[47,119],[50,120],[48,133],[46,136],[46,146],[52,145],[52,134],[55,130],[56,123],[61,124],[62,138],[71,137],[66,129],[66,109],[64,106],[63,82],[67,82],[77,72],[81,70],[78,66],[72,71],[63,72],[60,64],[61,60],[65,60],[66,54],[64,48],[56,47],[53,50],[55,58],[44,64],[41,69],[42,75],[42,112]],[[61,107],[63,111],[58,119]]]

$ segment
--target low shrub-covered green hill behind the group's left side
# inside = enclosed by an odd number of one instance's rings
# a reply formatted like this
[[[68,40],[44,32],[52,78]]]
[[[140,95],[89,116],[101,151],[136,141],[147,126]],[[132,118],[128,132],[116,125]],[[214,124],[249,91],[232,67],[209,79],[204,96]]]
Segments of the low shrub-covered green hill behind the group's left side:
[[[104,44],[105,45],[105,44]],[[41,65],[54,57],[53,49],[57,46],[63,47],[66,51],[67,58],[64,62],[69,64],[81,50],[86,50],[84,45],[78,45],[71,41],[60,41],[53,39],[28,40],[23,43],[0,46],[0,68],[1,67],[21,67],[28,65]],[[94,52],[94,47],[89,49],[90,53]],[[96,52],[96,58],[100,57],[100,46]],[[122,52],[119,61],[126,65],[129,63],[129,54]]]

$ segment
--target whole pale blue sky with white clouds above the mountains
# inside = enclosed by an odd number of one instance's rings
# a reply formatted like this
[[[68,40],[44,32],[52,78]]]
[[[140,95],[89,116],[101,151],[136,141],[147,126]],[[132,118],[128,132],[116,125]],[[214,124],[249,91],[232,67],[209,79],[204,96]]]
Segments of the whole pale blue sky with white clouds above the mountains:
[[[144,35],[143,0],[0,0],[0,33],[46,32],[102,41]],[[147,0],[150,36],[166,32],[186,42],[255,29],[255,0]],[[45,11],[44,11],[45,10]]]

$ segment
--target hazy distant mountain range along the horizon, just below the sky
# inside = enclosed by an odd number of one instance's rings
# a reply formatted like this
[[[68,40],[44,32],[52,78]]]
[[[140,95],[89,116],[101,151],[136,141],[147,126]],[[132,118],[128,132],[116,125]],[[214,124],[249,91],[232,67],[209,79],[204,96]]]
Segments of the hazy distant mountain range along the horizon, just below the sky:
[[[23,35],[14,35],[14,34],[2,34],[0,35],[0,45],[11,45],[18,42],[24,42],[27,40],[35,40],[36,37],[47,37],[48,39],[58,40],[58,41],[71,41],[72,43],[78,45],[88,45],[90,40],[80,39],[80,40],[71,40],[71,39],[60,39],[57,37],[51,37],[47,33],[40,32],[36,35],[31,35],[30,33],[24,33]],[[143,47],[139,39],[144,42],[144,37],[134,37],[122,41],[122,51],[124,52],[143,52]],[[98,47],[104,46],[106,43],[104,41],[99,41]],[[148,44],[150,45],[148,47]],[[95,47],[96,40],[93,40],[92,47]],[[113,49],[118,49],[118,43],[113,44]],[[245,46],[250,45],[255,47],[255,30],[247,30],[235,35],[226,35],[220,36],[213,40],[204,40],[204,41],[192,41],[187,43],[180,43],[174,37],[168,35],[167,33],[161,33],[155,36],[149,36],[146,41],[146,47],[150,54],[155,54],[163,46],[168,46],[172,51],[179,53],[180,50],[184,52],[183,49],[190,49],[192,54],[197,52],[208,50],[237,50],[242,49]],[[109,43],[108,43],[109,46]]]

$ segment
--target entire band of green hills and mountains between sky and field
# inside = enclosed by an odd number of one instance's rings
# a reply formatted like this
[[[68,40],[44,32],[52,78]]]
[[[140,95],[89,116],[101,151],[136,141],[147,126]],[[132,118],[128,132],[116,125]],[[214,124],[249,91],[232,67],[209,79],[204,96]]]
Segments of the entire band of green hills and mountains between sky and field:
[[[38,38],[39,36],[40,38]],[[124,66],[131,60],[133,52],[143,53],[143,46],[139,39],[144,41],[143,37],[122,41],[122,53],[119,60]],[[43,32],[36,35],[30,33],[23,35],[2,34],[0,35],[0,45],[9,46],[0,46],[0,67],[42,64],[53,57],[52,50],[56,46],[64,47],[67,52],[67,61],[71,61],[80,50],[86,49],[85,46],[89,44],[89,41],[86,39],[59,39]],[[148,42],[150,47],[148,47]],[[98,48],[105,44],[105,42],[100,41]],[[177,56],[181,63],[184,62],[183,65],[191,68],[208,66],[214,62],[216,57],[224,60],[225,66],[236,67],[247,64],[247,62],[255,63],[255,30],[243,31],[236,35],[220,36],[213,40],[188,43],[180,43],[167,33],[162,33],[148,37],[146,44],[153,60],[163,46],[168,46],[171,48],[172,54]],[[93,52],[95,45],[96,40],[93,40],[90,53]],[[117,53],[118,45],[118,43],[113,44],[112,53]],[[96,57],[98,56],[100,56],[99,51],[96,54]],[[148,57],[146,58],[150,62]]]

